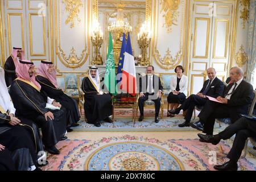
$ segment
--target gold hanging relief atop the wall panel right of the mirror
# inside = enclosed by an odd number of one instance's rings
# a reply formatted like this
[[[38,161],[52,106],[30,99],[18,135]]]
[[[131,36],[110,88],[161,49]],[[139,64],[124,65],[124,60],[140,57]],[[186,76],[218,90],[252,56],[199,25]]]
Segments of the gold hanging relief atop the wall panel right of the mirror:
[[[179,16],[177,9],[179,9],[180,0],[161,0],[160,5],[162,5],[160,13],[164,11],[163,18],[165,23],[163,27],[166,25],[167,33],[170,34],[172,32],[172,25],[177,26],[177,18]]]

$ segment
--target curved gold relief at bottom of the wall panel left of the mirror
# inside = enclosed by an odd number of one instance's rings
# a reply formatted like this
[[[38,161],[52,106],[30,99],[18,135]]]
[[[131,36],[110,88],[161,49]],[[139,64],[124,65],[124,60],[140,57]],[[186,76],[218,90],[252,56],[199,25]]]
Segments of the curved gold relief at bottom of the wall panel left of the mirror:
[[[67,56],[64,53],[63,49],[60,48],[59,56],[60,55],[63,57],[63,59],[60,59],[61,63],[63,63],[65,67],[73,68],[73,69],[81,67],[85,63],[88,57],[88,54],[86,54],[86,49],[82,50],[80,57],[77,56],[76,50],[74,49],[74,47],[72,47],[71,53],[69,54],[69,56]]]

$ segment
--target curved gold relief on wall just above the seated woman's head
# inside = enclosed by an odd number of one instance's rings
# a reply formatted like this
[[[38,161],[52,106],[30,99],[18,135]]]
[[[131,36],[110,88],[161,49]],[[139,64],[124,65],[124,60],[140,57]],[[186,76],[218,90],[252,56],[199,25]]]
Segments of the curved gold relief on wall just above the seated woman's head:
[[[183,57],[182,48],[176,53],[176,56],[173,57],[170,51],[170,48],[167,49],[166,55],[161,57],[158,49],[155,49],[155,60],[158,65],[163,69],[173,69],[176,65],[180,64],[180,61]]]

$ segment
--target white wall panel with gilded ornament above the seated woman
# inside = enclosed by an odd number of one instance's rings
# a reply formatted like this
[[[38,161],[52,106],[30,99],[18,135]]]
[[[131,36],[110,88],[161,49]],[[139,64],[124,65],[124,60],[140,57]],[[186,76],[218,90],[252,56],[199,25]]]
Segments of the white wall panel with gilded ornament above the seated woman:
[[[154,7],[152,55],[160,68],[173,69],[183,60],[187,1],[154,0]]]

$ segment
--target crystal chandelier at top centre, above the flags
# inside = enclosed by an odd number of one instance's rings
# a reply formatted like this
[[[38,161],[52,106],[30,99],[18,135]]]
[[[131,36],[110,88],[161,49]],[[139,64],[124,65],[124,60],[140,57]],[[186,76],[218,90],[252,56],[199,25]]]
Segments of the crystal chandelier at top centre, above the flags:
[[[125,32],[125,34],[127,34],[128,32],[132,31],[132,27],[130,26],[130,24],[128,22],[123,21],[123,8],[124,7],[125,7],[125,5],[123,5],[122,3],[119,3],[119,5],[117,5],[117,21],[110,23],[108,26],[108,30],[110,32],[112,32],[113,34],[122,35],[123,32]]]

